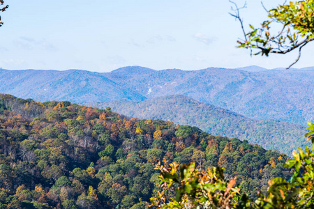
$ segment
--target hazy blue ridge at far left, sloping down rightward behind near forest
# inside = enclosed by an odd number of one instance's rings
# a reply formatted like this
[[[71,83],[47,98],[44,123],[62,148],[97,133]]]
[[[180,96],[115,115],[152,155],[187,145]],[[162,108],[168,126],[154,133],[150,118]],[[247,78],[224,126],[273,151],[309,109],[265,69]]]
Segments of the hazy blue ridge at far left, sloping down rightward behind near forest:
[[[0,92],[38,101],[71,102],[144,100],[145,97],[121,86],[99,72],[85,70],[3,70]]]

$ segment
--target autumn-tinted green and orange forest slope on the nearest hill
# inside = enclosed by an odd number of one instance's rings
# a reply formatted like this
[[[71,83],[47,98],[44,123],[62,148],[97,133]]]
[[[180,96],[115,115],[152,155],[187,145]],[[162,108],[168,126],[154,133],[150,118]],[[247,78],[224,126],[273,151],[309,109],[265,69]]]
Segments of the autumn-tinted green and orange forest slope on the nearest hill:
[[[224,167],[252,198],[290,178],[287,155],[169,121],[0,95],[0,208],[146,208],[154,163]]]

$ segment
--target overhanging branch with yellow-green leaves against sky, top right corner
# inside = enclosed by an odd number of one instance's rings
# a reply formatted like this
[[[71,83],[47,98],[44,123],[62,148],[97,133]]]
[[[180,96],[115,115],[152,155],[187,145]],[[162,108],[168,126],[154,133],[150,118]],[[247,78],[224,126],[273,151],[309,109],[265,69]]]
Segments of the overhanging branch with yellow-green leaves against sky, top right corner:
[[[241,23],[244,40],[238,40],[239,48],[257,49],[254,55],[262,54],[287,54],[294,49],[299,49],[299,56],[288,68],[297,63],[301,57],[301,49],[314,40],[314,0],[290,1],[290,3],[279,5],[267,10],[268,20],[262,22],[261,26],[255,28],[250,24],[251,31],[246,33],[243,20],[240,17],[237,4],[234,4],[230,13]],[[245,6],[244,6],[245,7]],[[271,28],[280,28],[279,31]],[[287,69],[288,69],[287,68]]]

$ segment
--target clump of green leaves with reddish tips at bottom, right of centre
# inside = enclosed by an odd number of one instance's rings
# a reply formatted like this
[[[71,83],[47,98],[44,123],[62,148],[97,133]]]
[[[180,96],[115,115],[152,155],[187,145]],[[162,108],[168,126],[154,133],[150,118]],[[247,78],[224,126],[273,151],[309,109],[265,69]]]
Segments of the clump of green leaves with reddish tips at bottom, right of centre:
[[[223,168],[213,167],[207,171],[197,171],[195,163],[156,164],[160,170],[158,180],[162,192],[151,198],[151,206],[157,208],[243,208],[241,201],[247,199],[246,194],[240,196],[240,189],[234,187],[236,178],[227,181],[223,177]],[[179,174],[178,171],[179,170]],[[175,199],[167,201],[167,192],[175,191]]]

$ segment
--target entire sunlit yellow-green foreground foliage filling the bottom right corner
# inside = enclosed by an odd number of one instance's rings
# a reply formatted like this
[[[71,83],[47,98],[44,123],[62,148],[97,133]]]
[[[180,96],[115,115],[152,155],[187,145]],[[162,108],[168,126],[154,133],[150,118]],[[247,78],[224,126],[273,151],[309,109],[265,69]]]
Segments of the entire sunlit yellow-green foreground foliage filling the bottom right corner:
[[[236,185],[237,177],[225,180],[223,170],[213,167],[207,171],[195,169],[195,163],[156,164],[160,170],[157,180],[161,187],[151,206],[157,208],[314,208],[314,124],[308,123],[308,140],[313,148],[306,146],[293,152],[293,159],[285,167],[294,171],[290,180],[269,180],[267,193],[249,199]],[[179,171],[179,172],[178,172]],[[175,194],[171,195],[171,192]]]

